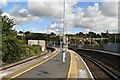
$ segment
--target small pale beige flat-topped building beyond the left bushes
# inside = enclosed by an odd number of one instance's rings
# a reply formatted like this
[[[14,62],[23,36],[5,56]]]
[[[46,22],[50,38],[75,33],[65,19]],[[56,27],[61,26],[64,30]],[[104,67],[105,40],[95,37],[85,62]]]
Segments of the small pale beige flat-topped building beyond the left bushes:
[[[42,51],[46,50],[45,40],[28,40],[28,45],[40,45],[42,47]]]

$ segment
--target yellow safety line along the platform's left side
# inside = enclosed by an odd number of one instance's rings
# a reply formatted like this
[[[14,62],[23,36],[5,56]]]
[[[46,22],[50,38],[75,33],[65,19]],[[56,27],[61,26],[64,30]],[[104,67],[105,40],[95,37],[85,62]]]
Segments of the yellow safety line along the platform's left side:
[[[31,70],[31,69],[33,69],[33,68],[35,68],[35,67],[37,67],[37,66],[41,65],[42,63],[44,63],[44,62],[48,61],[49,59],[51,59],[51,58],[55,57],[55,56],[56,56],[59,52],[60,52],[60,49],[58,50],[58,52],[56,52],[56,54],[55,54],[55,55],[51,56],[50,58],[48,58],[48,59],[46,59],[46,60],[42,61],[41,63],[39,63],[39,64],[37,64],[37,65],[35,65],[35,66],[33,66],[33,67],[31,67],[31,68],[29,68],[29,69],[27,69],[27,70],[25,70],[25,71],[21,72],[21,73],[19,73],[19,74],[15,75],[15,76],[13,76],[13,77],[11,77],[10,79],[13,79],[13,78],[15,78],[15,77],[17,77],[17,76],[19,76],[19,75],[21,75],[21,74],[23,74],[23,73],[25,73],[25,72],[27,72],[27,71]]]

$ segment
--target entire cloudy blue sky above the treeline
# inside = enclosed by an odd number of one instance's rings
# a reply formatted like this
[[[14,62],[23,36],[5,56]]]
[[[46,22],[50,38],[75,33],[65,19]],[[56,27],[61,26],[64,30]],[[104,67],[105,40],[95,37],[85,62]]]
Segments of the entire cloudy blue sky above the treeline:
[[[14,20],[13,29],[38,33],[118,32],[118,2],[115,0],[3,0],[3,14]],[[63,16],[63,14],[65,14]],[[63,24],[64,22],[64,24]]]

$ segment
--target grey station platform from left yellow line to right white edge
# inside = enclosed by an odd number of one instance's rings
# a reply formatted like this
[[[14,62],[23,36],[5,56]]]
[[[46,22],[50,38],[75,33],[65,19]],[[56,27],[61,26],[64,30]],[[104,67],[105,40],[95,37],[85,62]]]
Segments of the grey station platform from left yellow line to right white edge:
[[[72,50],[69,50],[69,53],[66,54],[65,63],[62,62],[62,52],[59,50],[49,60],[40,62],[30,69],[26,66],[26,69],[28,70],[14,75],[11,80],[92,80],[93,78],[85,62]],[[2,80],[7,80],[7,78]]]

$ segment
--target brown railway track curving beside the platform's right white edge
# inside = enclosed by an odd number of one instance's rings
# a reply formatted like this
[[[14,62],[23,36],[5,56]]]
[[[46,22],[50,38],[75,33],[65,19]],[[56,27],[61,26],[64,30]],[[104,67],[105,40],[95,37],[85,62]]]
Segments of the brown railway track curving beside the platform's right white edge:
[[[120,69],[114,63],[97,59],[79,50],[75,51],[85,60],[95,80],[120,80]],[[89,52],[86,51],[86,53]]]

